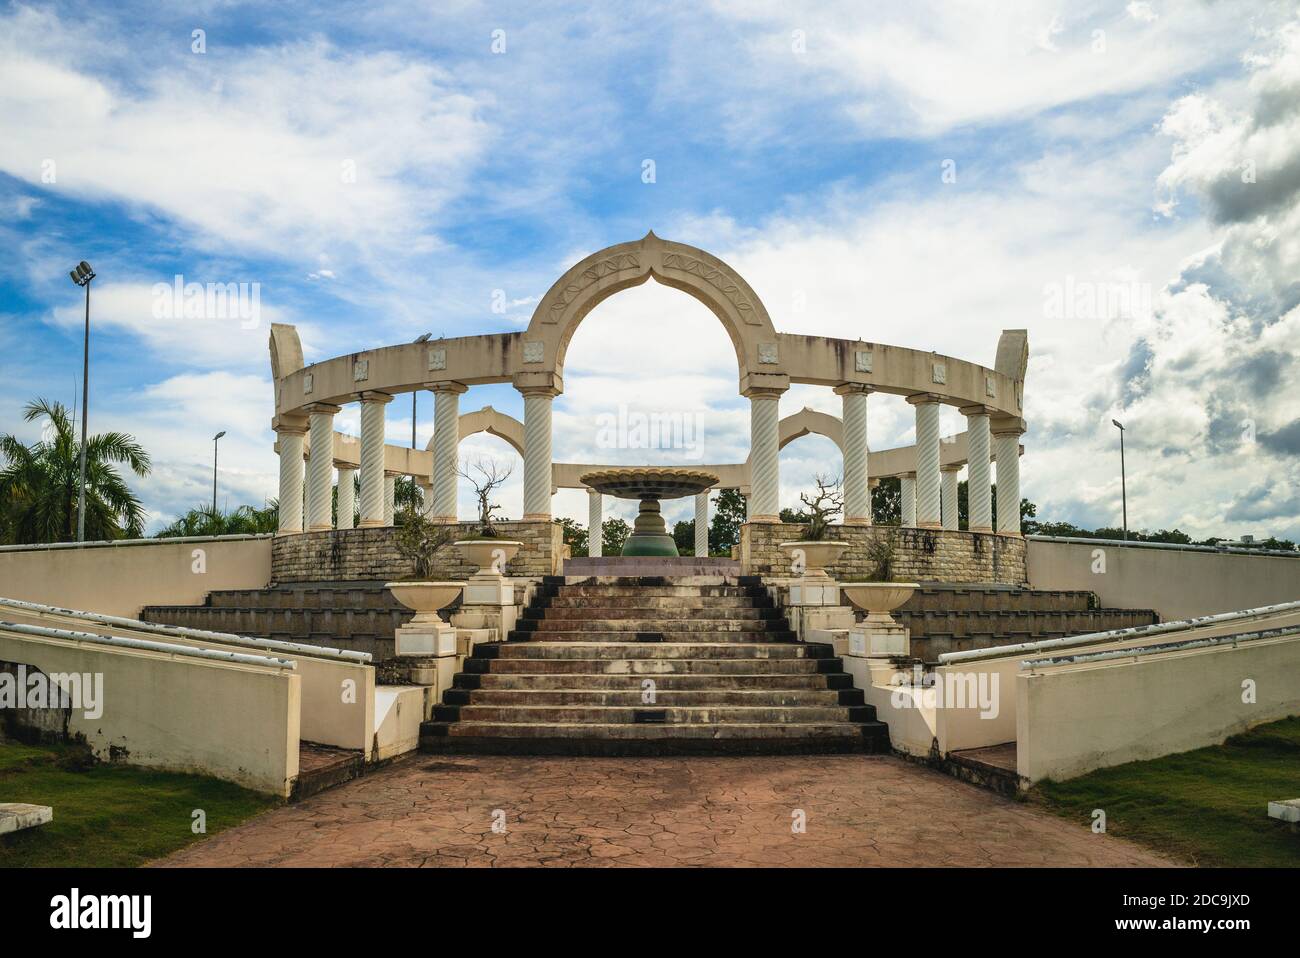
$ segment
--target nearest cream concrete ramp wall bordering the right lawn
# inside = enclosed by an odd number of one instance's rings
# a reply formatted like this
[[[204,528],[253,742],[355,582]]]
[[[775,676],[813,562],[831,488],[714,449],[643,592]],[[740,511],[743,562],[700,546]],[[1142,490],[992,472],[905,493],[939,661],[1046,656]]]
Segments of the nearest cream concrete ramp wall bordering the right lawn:
[[[1026,664],[1017,679],[1020,777],[1070,779],[1300,714],[1300,627],[1132,653]]]

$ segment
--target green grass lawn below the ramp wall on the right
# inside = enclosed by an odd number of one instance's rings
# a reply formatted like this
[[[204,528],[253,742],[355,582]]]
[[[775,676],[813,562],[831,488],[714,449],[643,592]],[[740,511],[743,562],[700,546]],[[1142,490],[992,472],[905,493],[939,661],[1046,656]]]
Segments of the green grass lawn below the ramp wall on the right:
[[[1106,812],[1106,832],[1206,866],[1300,866],[1300,833],[1268,803],[1300,798],[1300,718],[1150,762],[1044,781],[1031,801],[1084,824]]]

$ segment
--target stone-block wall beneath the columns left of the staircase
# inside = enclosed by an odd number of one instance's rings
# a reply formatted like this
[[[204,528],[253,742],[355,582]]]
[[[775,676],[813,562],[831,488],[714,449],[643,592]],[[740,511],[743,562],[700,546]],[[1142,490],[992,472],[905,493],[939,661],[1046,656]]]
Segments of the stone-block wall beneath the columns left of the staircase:
[[[455,538],[477,530],[477,523],[458,523]],[[506,567],[507,576],[541,577],[558,569],[563,532],[556,523],[497,523],[502,538],[524,543]],[[346,582],[408,578],[412,564],[394,545],[391,525],[367,529],[332,529],[295,536],[277,536],[272,543],[270,580],[286,582]],[[430,578],[462,581],[477,571],[447,545],[438,550]]]

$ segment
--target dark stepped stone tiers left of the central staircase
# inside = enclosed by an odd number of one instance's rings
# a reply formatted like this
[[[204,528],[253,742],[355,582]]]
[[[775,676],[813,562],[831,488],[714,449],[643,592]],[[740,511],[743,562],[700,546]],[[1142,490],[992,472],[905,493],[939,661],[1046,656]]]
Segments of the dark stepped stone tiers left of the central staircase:
[[[382,582],[234,589],[209,593],[202,606],[140,611],[147,623],[350,649],[376,662],[393,658],[393,633],[413,615]]]

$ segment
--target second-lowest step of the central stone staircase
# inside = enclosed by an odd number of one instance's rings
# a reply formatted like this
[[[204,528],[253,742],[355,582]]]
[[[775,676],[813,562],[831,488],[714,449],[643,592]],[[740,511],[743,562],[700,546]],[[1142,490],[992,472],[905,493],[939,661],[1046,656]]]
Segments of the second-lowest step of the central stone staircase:
[[[750,725],[875,720],[871,706],[436,706],[434,719],[462,723],[589,725]]]

